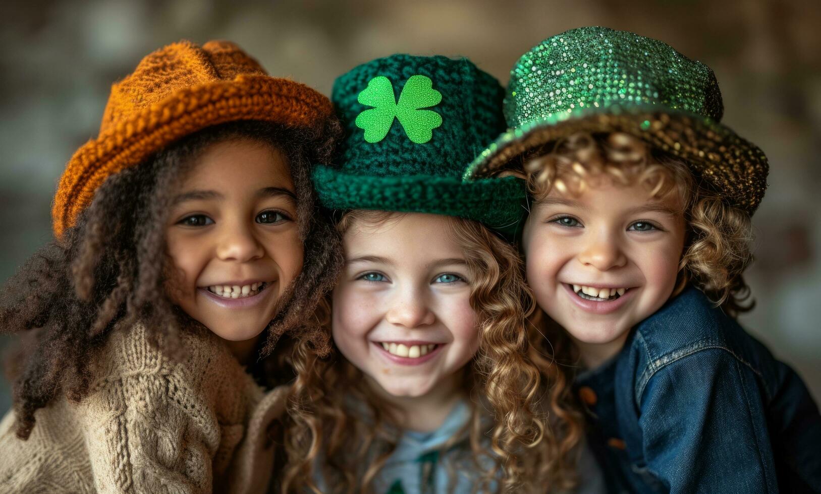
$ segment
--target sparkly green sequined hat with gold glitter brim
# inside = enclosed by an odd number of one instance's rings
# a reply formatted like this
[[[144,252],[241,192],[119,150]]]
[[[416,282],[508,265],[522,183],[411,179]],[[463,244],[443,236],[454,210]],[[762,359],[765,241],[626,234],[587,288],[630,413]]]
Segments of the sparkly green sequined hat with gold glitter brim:
[[[466,181],[521,167],[527,153],[576,132],[625,132],[686,161],[724,199],[752,214],[767,157],[721,123],[713,71],[666,43],[582,27],[525,53],[504,99],[510,128],[468,167]]]

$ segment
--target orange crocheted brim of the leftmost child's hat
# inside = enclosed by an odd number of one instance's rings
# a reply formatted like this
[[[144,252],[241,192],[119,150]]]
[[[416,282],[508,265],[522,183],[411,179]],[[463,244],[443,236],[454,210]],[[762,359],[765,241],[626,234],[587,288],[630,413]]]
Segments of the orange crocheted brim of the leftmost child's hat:
[[[74,225],[108,176],[197,130],[241,120],[312,128],[332,115],[333,106],[323,94],[268,75],[238,75],[234,80],[180,89],[101,132],[74,153],[58,188],[67,193],[54,200],[54,233],[60,237]]]

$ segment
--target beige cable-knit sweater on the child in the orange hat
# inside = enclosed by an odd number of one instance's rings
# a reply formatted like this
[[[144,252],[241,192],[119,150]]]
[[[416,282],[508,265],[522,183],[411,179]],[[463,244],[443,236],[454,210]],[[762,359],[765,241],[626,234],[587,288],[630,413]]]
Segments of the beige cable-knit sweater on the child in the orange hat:
[[[211,332],[182,336],[174,363],[144,327],[119,327],[80,403],[54,401],[31,437],[0,422],[0,492],[264,492],[273,465],[266,429],[286,387],[267,394]]]

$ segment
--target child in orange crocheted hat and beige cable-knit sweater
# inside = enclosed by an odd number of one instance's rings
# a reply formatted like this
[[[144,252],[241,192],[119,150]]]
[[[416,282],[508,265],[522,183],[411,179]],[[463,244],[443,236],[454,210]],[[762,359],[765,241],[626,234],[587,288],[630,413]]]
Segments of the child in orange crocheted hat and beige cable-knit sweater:
[[[25,331],[8,365],[0,492],[254,492],[287,389],[277,338],[340,266],[310,164],[338,134],[323,95],[236,45],[174,43],[112,86],[68,162],[57,237],[2,290]]]

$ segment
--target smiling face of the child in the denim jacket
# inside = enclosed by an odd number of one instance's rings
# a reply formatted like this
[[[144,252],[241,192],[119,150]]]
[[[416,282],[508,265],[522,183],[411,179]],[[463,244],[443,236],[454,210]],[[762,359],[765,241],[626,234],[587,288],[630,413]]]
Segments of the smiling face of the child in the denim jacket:
[[[653,198],[606,176],[589,185],[581,194],[553,188],[534,203],[522,245],[539,306],[596,367],[672,294],[685,220],[676,191]]]

